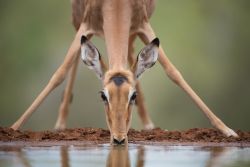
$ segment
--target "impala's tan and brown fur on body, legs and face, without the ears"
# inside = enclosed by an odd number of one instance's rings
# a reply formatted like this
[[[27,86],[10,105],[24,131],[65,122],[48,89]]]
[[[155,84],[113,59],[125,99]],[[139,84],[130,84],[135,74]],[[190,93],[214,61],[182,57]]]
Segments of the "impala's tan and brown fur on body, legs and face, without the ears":
[[[150,43],[150,41],[156,37],[150,23],[148,22],[154,10],[155,0],[71,0],[71,2],[73,24],[77,33],[65,56],[64,62],[57,69],[49,83],[30,107],[12,125],[12,128],[15,130],[20,128],[45,98],[62,83],[69,70],[73,67],[68,90],[65,94],[66,100],[63,101],[62,109],[60,111],[64,113],[60,115],[66,117],[65,113],[68,109],[69,97],[71,95],[70,92],[72,90],[71,85],[76,71],[74,68],[77,63],[77,53],[81,48],[81,37],[86,36],[87,38],[90,38],[93,35],[98,35],[105,38],[109,57],[109,69],[102,77],[104,91],[109,96],[109,101],[105,103],[105,109],[107,123],[111,132],[111,140],[117,139],[123,141],[123,139],[127,139],[132,106],[129,100],[131,97],[135,97],[131,96],[131,94],[134,93],[136,83],[134,74],[132,73],[134,72],[134,69],[132,72],[126,70],[127,59],[131,56],[129,55],[133,50],[131,49],[131,42],[134,41],[135,36],[139,36],[145,44]],[[232,129],[228,128],[192,90],[182,77],[181,73],[169,61],[161,47],[159,48],[158,60],[170,79],[172,79],[191,97],[196,105],[208,117],[212,125],[226,136],[238,136]],[[101,66],[102,69],[105,69],[103,62],[101,62]],[[134,67],[136,66],[133,66],[133,68]],[[114,82],[111,82],[111,78],[116,75],[123,75],[128,81],[117,86]],[[140,90],[138,85],[136,88],[137,90]],[[138,98],[138,101],[141,100],[141,97]],[[140,108],[141,105],[138,105],[138,107]],[[152,128],[153,124],[151,120],[148,119],[148,117],[145,117],[146,111],[144,110],[144,106],[141,107],[141,109],[143,113],[140,114],[140,116],[144,117],[142,120],[147,119],[144,126],[146,128]],[[65,128],[65,118],[61,120],[63,121],[58,122],[58,126],[56,126],[57,129]],[[114,142],[117,141],[114,140]]]

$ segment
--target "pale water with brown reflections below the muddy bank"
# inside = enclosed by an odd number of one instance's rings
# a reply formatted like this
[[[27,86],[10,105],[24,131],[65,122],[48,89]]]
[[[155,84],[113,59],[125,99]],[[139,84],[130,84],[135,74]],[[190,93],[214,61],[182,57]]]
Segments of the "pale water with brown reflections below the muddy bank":
[[[1,147],[0,167],[250,167],[250,148],[153,146]]]

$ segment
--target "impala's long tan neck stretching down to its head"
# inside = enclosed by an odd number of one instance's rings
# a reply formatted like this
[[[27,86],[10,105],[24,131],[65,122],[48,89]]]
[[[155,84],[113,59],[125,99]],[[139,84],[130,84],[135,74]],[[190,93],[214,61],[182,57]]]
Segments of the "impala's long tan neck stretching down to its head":
[[[127,0],[109,0],[103,7],[103,31],[109,69],[126,69],[131,7]]]

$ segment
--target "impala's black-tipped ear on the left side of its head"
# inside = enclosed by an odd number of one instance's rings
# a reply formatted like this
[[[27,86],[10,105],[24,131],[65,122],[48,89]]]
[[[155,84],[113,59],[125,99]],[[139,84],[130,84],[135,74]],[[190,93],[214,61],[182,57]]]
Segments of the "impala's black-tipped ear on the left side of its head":
[[[93,70],[99,79],[103,78],[104,67],[101,61],[101,55],[97,48],[85,36],[81,38],[81,58],[84,64]]]

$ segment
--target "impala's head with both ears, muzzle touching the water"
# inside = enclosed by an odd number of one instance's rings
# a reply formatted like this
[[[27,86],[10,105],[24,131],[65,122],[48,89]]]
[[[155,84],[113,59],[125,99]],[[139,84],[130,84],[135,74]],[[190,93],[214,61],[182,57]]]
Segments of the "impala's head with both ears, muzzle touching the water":
[[[112,68],[105,71],[99,51],[85,36],[82,36],[81,57],[102,80],[103,90],[100,94],[105,105],[111,142],[114,144],[123,144],[127,141],[131,108],[136,99],[135,84],[138,77],[157,61],[158,47],[159,39],[155,38],[141,50],[130,70]]]

